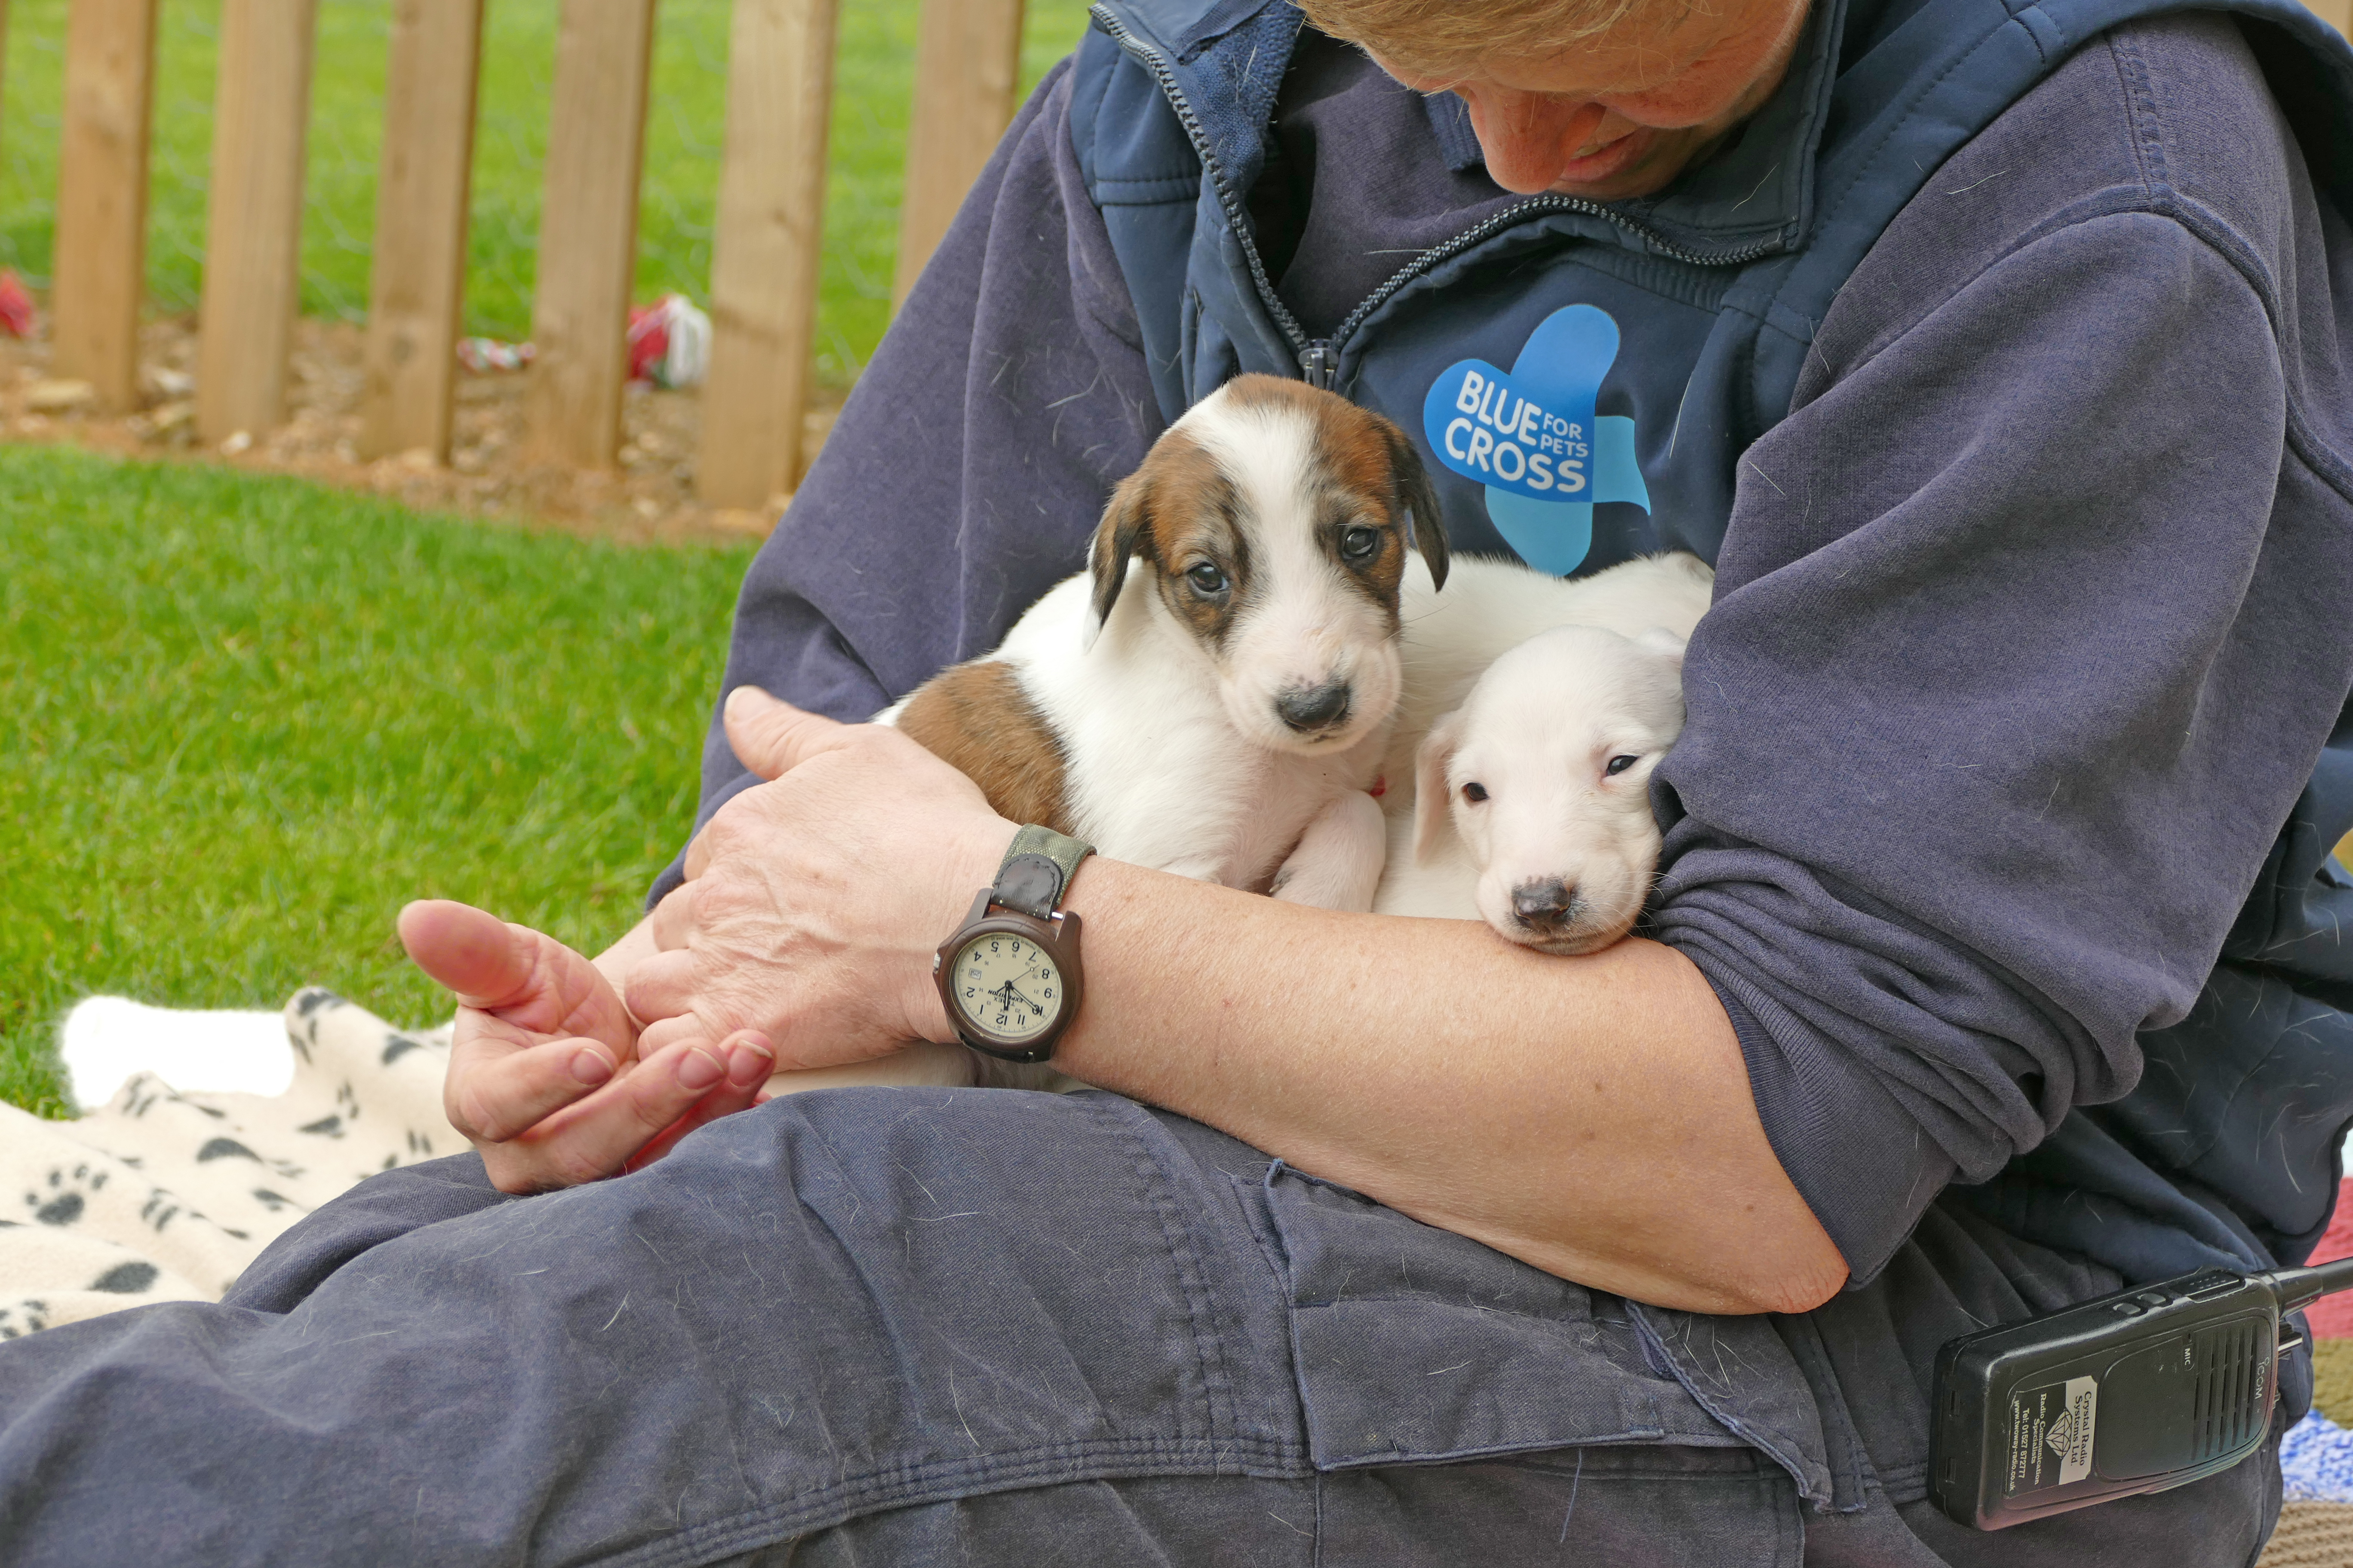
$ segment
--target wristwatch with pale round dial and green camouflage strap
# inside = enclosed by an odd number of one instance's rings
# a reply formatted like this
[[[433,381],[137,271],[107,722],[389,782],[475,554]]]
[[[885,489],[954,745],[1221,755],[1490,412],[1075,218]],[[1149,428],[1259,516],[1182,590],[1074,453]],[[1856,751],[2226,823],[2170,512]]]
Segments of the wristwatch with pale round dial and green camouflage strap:
[[[1078,914],[1059,910],[1094,844],[1024,827],[972,914],[932,957],[948,1023],[967,1046],[1007,1063],[1054,1060],[1078,1016]]]

